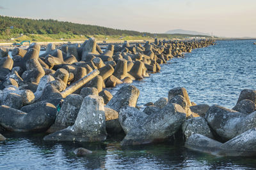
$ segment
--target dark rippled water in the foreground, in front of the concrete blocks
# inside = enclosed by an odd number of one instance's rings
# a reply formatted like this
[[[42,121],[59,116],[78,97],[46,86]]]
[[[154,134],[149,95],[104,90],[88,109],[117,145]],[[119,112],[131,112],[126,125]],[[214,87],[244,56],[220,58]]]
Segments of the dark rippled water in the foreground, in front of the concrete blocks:
[[[44,134],[5,134],[0,144],[0,169],[254,169],[256,158],[214,157],[190,151],[182,144],[166,142],[143,146],[103,143],[54,143]],[[121,138],[120,138],[121,139]],[[76,157],[77,147],[92,150]]]

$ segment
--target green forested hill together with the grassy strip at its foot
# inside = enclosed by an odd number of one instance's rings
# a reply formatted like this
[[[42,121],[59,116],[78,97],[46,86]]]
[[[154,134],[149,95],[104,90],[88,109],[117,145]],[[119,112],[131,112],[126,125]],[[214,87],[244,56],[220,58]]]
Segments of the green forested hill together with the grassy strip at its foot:
[[[20,35],[23,38],[20,38]],[[90,36],[106,38],[119,38],[120,36],[138,38],[184,38],[186,34],[151,34],[148,32],[111,29],[97,25],[75,24],[72,22],[60,22],[58,20],[35,20],[29,18],[0,16],[0,39],[22,41],[52,41],[52,39],[84,39]],[[114,38],[115,37],[115,38]]]

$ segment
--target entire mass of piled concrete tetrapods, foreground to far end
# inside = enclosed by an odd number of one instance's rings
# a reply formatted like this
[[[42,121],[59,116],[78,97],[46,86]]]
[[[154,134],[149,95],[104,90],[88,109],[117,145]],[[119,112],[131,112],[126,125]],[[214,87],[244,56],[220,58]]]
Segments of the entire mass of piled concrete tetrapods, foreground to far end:
[[[141,111],[137,106],[140,90],[136,87],[123,86],[114,96],[105,89],[119,83],[129,84],[133,80],[142,80],[150,76],[150,73],[161,71],[160,64],[165,64],[174,57],[183,57],[184,53],[195,48],[209,45],[214,45],[214,41],[155,39],[154,43],[146,42],[143,46],[141,43],[132,46],[128,42],[122,46],[108,45],[102,52],[96,40],[90,38],[82,45],[63,45],[61,50],[56,50],[55,45],[49,44],[41,55],[37,50],[40,46],[36,46],[36,43],[28,51],[16,48],[13,50],[15,70],[6,74],[1,85],[3,97],[0,125],[6,131],[13,132],[46,131],[49,135],[44,137],[45,141],[95,142],[106,140],[108,134],[125,134],[120,143],[122,146],[155,143],[159,139],[164,141],[182,127],[182,135],[186,138],[185,146],[192,150],[213,155],[253,155],[250,152],[252,146],[246,146],[243,142],[236,145],[246,147],[240,149],[236,146],[235,151],[226,147],[233,145],[233,139],[244,139],[247,133],[256,136],[255,129],[243,124],[255,123],[251,119],[256,113],[253,112],[256,109],[256,92],[253,90],[243,90],[234,110],[228,110],[216,105],[196,105],[190,101],[186,89],[177,87],[169,90],[168,99],[161,97],[155,103],[147,103],[146,108]],[[81,48],[83,50],[79,57]],[[3,48],[1,50],[4,51]],[[4,66],[12,69],[12,59],[4,59]],[[26,71],[22,72],[18,67],[25,68]],[[252,105],[249,111],[248,108],[244,110],[244,104]],[[248,111],[248,116],[244,114],[245,111]],[[228,121],[233,121],[234,114],[236,118],[241,118],[235,125],[242,127],[241,129],[232,133],[234,125],[218,125],[227,116],[227,124]],[[34,121],[33,117],[40,118],[41,122]],[[223,118],[218,120],[220,117]],[[218,128],[229,133],[218,132]],[[214,136],[214,132],[224,140]],[[251,142],[253,138],[246,140]],[[202,141],[215,144],[204,145]],[[218,152],[211,152],[212,148]]]

